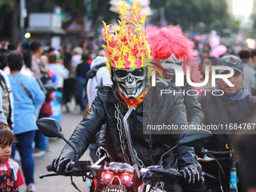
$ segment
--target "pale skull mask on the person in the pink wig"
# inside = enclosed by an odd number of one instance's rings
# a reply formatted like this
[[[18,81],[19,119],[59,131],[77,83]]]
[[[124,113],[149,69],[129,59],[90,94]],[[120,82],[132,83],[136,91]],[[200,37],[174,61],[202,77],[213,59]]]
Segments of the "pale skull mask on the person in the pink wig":
[[[160,60],[161,64],[176,64],[177,66],[183,67],[183,59],[177,59],[174,53],[168,58]],[[163,67],[163,69],[166,72],[167,78],[172,79],[173,75],[175,75],[175,70],[169,66],[169,67]]]

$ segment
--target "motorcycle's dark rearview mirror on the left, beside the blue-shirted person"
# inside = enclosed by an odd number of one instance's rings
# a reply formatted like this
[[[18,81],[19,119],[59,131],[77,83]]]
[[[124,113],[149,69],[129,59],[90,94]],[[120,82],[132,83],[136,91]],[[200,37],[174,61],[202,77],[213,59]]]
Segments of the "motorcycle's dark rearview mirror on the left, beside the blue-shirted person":
[[[36,125],[44,136],[63,138],[63,134],[61,133],[62,128],[59,125],[59,122],[55,119],[44,117],[38,119]]]

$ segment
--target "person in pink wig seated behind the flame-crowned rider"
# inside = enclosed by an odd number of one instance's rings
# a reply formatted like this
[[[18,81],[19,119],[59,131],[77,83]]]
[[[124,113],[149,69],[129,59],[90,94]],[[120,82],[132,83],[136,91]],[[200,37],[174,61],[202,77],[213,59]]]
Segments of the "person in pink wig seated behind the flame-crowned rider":
[[[176,64],[181,66],[184,75],[187,75],[187,66],[190,66],[190,78],[194,83],[200,83],[199,66],[194,57],[194,42],[187,38],[179,26],[156,27],[148,26],[146,28],[148,35],[147,41],[151,45],[151,56],[154,62],[163,64]],[[168,65],[167,65],[168,66]],[[166,72],[166,81],[175,85],[175,70],[172,67],[163,66]],[[200,90],[195,90],[187,83],[184,76],[184,87],[176,87],[184,96],[184,105],[187,110],[188,123],[200,125],[203,123],[204,114],[197,94]],[[188,91],[188,92],[187,92]],[[188,94],[187,94],[188,93]],[[193,95],[193,96],[192,96]]]

